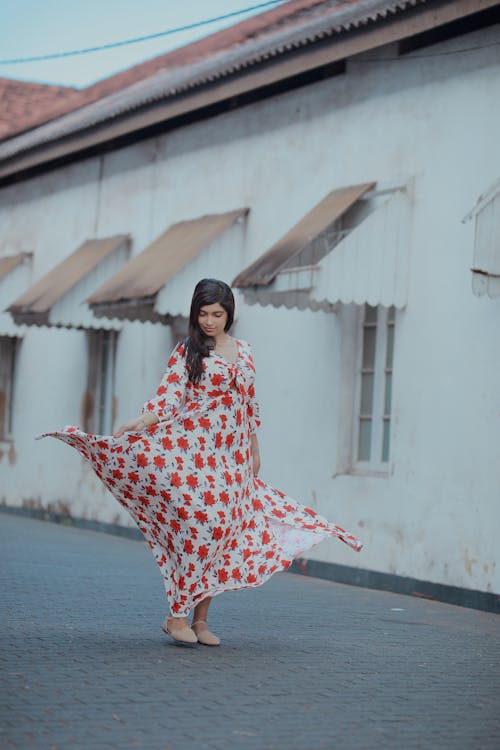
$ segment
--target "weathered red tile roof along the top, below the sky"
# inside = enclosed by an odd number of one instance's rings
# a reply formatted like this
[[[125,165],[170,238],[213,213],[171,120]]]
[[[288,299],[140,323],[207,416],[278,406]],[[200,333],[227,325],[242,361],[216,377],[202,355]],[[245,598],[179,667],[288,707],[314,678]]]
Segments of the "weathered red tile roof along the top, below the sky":
[[[157,73],[189,66],[217,52],[261,39],[280,26],[313,17],[332,6],[356,4],[356,0],[290,0],[273,10],[217,31],[197,42],[159,55],[151,60],[104,78],[84,89],[49,86],[0,78],[0,141],[19,135],[68,112],[91,104]]]

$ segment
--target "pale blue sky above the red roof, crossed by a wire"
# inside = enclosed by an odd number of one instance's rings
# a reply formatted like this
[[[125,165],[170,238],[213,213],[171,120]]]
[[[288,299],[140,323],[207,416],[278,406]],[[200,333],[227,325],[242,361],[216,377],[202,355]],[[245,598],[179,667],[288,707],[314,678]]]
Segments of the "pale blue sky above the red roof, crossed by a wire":
[[[0,0],[0,77],[81,88],[232,26],[231,19],[111,50],[55,60],[2,61],[120,42],[262,4],[265,0]]]

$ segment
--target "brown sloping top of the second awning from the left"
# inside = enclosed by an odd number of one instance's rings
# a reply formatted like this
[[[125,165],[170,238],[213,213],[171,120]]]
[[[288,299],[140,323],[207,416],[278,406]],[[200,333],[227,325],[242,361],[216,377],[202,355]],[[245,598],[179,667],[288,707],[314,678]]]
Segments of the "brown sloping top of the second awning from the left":
[[[49,271],[7,309],[16,322],[47,323],[51,308],[101,261],[122,245],[128,235],[87,240],[68,258]]]

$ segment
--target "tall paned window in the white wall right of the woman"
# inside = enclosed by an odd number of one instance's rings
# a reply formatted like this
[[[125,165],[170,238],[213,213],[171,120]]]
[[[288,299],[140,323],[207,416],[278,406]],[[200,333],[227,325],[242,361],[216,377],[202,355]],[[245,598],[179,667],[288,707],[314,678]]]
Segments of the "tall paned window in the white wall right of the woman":
[[[383,470],[390,456],[394,307],[365,305],[356,388],[354,468]]]

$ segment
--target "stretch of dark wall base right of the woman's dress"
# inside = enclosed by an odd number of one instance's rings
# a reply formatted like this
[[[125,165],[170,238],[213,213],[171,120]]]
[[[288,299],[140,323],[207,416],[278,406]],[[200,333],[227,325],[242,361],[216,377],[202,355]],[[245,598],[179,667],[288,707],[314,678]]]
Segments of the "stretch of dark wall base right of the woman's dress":
[[[419,596],[423,599],[434,599],[459,607],[482,609],[485,612],[500,614],[500,596],[485,591],[462,589],[458,586],[446,586],[442,583],[419,581],[417,578],[406,578],[392,573],[378,573],[374,570],[351,568],[348,565],[321,562],[297,558],[288,569],[291,573],[323,578],[327,581],[347,583],[350,586],[362,586],[367,589],[392,591],[395,594]]]

